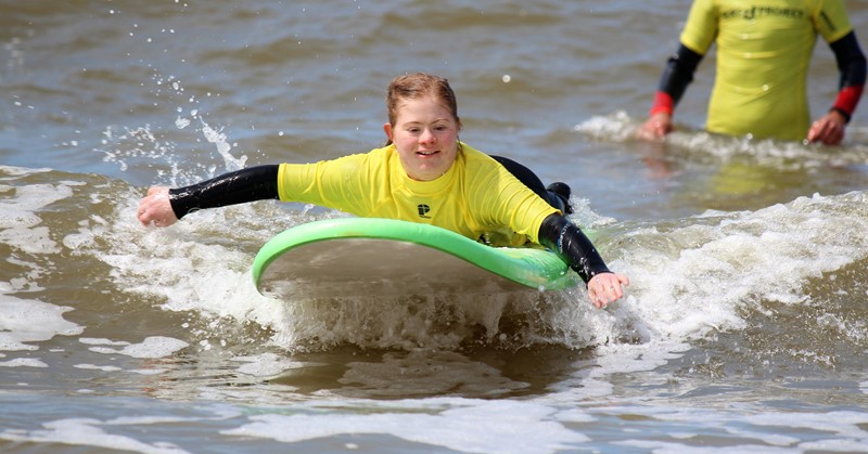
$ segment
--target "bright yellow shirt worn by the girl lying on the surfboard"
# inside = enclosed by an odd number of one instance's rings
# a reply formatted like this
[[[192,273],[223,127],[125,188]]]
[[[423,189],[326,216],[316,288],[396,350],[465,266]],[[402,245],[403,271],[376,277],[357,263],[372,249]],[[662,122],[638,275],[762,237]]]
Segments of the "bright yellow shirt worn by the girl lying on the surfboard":
[[[536,242],[542,219],[556,209],[495,159],[463,143],[456,164],[433,181],[408,178],[394,144],[316,164],[283,164],[279,179],[281,199],[437,225],[495,246]],[[528,230],[515,232],[511,225]]]

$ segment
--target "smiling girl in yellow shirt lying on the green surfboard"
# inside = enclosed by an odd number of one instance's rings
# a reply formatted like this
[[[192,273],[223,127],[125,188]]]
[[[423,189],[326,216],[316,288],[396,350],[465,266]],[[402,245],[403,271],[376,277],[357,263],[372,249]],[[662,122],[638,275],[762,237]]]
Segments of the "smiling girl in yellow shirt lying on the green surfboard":
[[[315,204],[433,224],[493,246],[541,244],[578,273],[597,308],[624,296],[629,280],[610,271],[565,217],[566,184],[546,189],[518,163],[458,139],[461,120],[446,79],[399,76],[388,86],[386,108],[383,147],[316,164],[251,167],[184,187],[154,186],[139,204],[139,221],[168,226],[193,210],[269,198]]]

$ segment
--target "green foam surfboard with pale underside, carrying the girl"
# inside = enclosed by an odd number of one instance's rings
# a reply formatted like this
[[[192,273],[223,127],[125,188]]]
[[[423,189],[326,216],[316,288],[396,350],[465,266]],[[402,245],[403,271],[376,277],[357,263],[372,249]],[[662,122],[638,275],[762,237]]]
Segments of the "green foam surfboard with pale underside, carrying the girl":
[[[340,218],[276,235],[253,261],[256,288],[284,300],[560,290],[580,280],[542,248],[490,247],[408,221]]]

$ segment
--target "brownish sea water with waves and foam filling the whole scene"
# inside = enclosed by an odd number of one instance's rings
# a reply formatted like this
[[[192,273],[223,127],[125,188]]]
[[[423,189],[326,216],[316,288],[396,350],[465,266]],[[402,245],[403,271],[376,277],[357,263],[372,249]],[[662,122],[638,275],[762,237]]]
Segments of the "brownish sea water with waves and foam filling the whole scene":
[[[707,134],[710,55],[678,132],[637,141],[688,1],[18,3],[0,12],[0,451],[868,446],[866,109],[841,147]],[[136,221],[152,184],[382,144],[409,70],[449,78],[463,141],[573,187],[622,301],[278,301],[252,284],[258,248],[345,215]],[[838,83],[821,41],[809,80],[816,115]]]

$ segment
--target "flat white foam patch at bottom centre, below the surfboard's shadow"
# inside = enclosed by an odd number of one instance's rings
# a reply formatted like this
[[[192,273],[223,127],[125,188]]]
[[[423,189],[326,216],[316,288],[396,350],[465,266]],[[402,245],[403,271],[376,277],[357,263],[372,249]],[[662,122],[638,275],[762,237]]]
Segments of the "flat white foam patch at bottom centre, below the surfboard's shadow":
[[[222,433],[281,442],[337,434],[387,434],[460,452],[487,453],[553,452],[588,441],[556,420],[553,408],[531,402],[426,399],[379,406],[372,403],[363,412],[335,408],[331,414],[252,416],[251,423]]]

